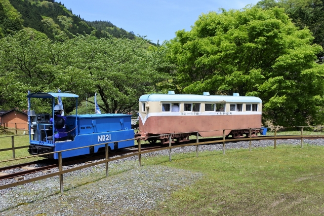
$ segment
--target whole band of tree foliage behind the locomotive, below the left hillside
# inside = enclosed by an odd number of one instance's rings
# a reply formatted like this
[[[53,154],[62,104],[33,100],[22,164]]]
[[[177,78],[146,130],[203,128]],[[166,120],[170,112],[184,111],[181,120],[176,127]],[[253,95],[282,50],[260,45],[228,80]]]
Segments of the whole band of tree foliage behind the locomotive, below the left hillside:
[[[155,84],[165,79],[158,69],[163,60],[157,52],[143,49],[146,44],[142,38],[97,39],[94,32],[52,43],[21,30],[0,40],[0,107],[26,109],[27,90],[59,88],[78,94],[79,101],[97,90],[105,113],[137,110],[140,95],[155,92]],[[50,104],[39,101],[36,109],[45,112]],[[73,102],[63,104],[66,113],[72,111]]]

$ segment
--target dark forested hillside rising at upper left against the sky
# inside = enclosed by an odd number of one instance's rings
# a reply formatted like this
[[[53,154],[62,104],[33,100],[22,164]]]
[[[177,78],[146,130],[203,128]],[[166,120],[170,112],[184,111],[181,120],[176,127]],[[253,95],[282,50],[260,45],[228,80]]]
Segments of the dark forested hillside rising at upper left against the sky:
[[[135,37],[133,32],[110,22],[95,21],[93,24],[80,18],[80,15],[74,15],[71,9],[55,0],[0,0],[0,37],[23,27],[45,33],[51,40],[71,39],[73,35],[90,34],[93,30],[97,30],[98,38],[105,38],[108,34],[116,38]],[[96,29],[97,26],[99,29]]]

